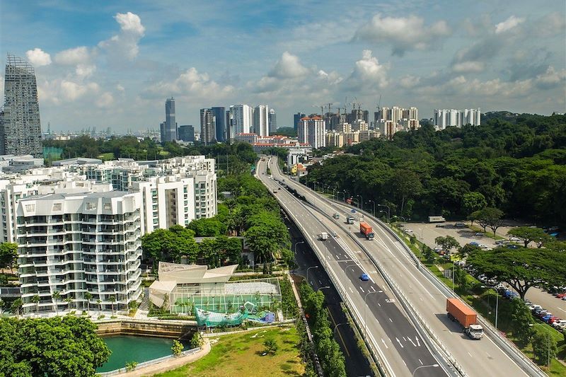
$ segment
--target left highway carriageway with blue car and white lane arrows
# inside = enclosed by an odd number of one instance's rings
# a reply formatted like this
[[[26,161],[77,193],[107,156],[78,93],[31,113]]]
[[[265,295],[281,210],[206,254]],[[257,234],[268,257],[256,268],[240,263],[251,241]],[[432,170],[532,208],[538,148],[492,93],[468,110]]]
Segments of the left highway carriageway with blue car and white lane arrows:
[[[371,273],[371,280],[362,282],[359,279],[367,267],[361,263],[352,249],[345,247],[345,241],[339,228],[335,229],[337,237],[328,240],[318,240],[318,234],[328,232],[327,225],[320,221],[320,214],[310,211],[303,202],[284,190],[279,183],[265,174],[267,163],[258,163],[258,178],[275,193],[282,207],[290,214],[299,228],[302,228],[306,240],[317,249],[319,259],[329,276],[333,279],[336,289],[346,296],[354,310],[354,315],[362,329],[365,329],[366,339],[379,359],[389,371],[390,376],[446,376],[443,368],[447,368],[444,359],[438,359],[427,347],[419,332],[410,323],[400,307],[391,289],[377,279],[377,273]],[[270,166],[272,172],[276,166]],[[332,232],[331,232],[332,234]],[[347,234],[343,233],[347,238]],[[364,258],[369,265],[367,258]],[[371,268],[371,267],[369,267]],[[371,268],[375,270],[375,267]],[[434,367],[434,365],[437,365]],[[418,369],[417,369],[418,368]],[[451,374],[454,376],[454,373]]]

